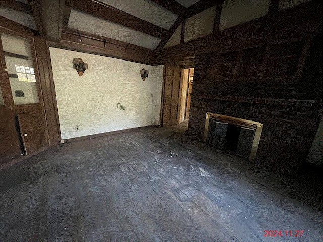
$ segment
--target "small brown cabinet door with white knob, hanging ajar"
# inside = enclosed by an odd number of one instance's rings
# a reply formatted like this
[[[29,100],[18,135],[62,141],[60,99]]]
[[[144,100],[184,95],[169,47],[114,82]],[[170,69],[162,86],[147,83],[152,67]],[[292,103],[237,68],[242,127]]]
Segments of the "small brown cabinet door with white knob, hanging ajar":
[[[18,114],[20,134],[26,156],[48,144],[48,132],[44,112]]]

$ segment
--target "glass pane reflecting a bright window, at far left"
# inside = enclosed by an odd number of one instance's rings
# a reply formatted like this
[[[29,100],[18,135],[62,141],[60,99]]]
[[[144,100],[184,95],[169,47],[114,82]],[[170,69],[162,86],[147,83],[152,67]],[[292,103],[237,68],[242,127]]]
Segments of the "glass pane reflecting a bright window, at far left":
[[[38,103],[38,92],[29,40],[0,33],[14,104]]]

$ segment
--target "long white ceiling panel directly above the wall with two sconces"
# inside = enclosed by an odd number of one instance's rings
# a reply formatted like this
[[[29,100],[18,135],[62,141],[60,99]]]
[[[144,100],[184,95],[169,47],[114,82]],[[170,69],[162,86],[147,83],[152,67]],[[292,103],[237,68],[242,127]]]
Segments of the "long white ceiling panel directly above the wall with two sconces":
[[[148,49],[155,49],[161,41],[148,34],[81,13],[74,9],[71,10],[68,27],[135,44]]]

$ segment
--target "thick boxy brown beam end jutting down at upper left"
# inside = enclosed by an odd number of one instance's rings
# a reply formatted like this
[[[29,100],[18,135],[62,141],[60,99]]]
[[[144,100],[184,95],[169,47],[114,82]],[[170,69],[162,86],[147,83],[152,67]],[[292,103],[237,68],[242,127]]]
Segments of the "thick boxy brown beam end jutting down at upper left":
[[[29,0],[40,36],[60,42],[64,19],[64,0]]]

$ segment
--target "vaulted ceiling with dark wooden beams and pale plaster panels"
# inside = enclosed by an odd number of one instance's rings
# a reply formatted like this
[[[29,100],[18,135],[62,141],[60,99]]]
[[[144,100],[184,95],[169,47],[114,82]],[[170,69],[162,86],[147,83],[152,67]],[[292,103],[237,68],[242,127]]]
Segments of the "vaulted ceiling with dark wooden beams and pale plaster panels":
[[[278,8],[288,8],[305,1],[280,0]],[[275,2],[0,0],[0,15],[39,31],[42,37],[50,41],[59,42],[62,31],[72,30],[154,50],[265,16]]]

